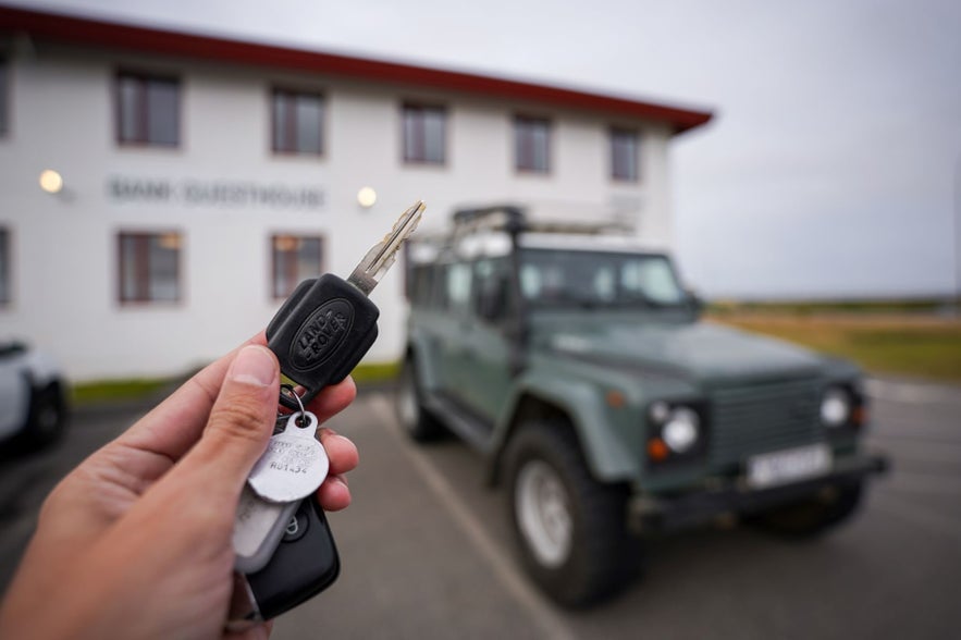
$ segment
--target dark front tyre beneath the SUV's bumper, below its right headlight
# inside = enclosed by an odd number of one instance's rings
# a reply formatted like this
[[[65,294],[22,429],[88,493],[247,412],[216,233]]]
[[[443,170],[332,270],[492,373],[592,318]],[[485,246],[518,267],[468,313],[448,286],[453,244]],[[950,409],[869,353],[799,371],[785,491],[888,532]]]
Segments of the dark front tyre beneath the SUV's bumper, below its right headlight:
[[[861,504],[862,491],[861,482],[835,487],[826,495],[759,514],[755,522],[785,538],[814,538],[854,515]]]

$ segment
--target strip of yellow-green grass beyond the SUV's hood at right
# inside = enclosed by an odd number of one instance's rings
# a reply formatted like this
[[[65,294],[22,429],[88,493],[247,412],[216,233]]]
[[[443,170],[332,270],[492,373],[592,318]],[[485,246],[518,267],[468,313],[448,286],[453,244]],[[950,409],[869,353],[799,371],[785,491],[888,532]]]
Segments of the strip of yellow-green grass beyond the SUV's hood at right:
[[[873,373],[961,382],[961,321],[899,311],[755,307],[706,317],[854,360]]]

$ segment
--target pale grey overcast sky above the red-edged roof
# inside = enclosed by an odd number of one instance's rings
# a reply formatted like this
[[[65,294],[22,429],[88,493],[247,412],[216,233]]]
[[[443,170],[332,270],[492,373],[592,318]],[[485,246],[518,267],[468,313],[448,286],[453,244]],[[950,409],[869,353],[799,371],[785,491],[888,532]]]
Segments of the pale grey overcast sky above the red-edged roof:
[[[17,3],[710,109],[672,155],[680,263],[705,295],[961,279],[959,0]]]

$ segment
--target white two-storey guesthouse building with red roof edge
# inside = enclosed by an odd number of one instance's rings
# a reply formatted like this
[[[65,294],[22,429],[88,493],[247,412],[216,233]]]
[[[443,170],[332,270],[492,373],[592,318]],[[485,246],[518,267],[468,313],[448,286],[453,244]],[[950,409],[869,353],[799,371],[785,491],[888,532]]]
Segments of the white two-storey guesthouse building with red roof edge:
[[[346,275],[417,198],[433,230],[509,201],[669,244],[668,144],[709,119],[0,7],[0,340],[74,380],[180,373],[264,327],[297,281]],[[401,272],[372,296],[368,361],[401,353]]]

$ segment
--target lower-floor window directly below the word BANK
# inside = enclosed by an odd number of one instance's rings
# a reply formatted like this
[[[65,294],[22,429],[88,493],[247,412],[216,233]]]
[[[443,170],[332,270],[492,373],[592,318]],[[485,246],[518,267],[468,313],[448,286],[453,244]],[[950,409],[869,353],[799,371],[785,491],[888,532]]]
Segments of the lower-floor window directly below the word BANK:
[[[119,241],[121,303],[180,300],[180,233],[121,233]]]

